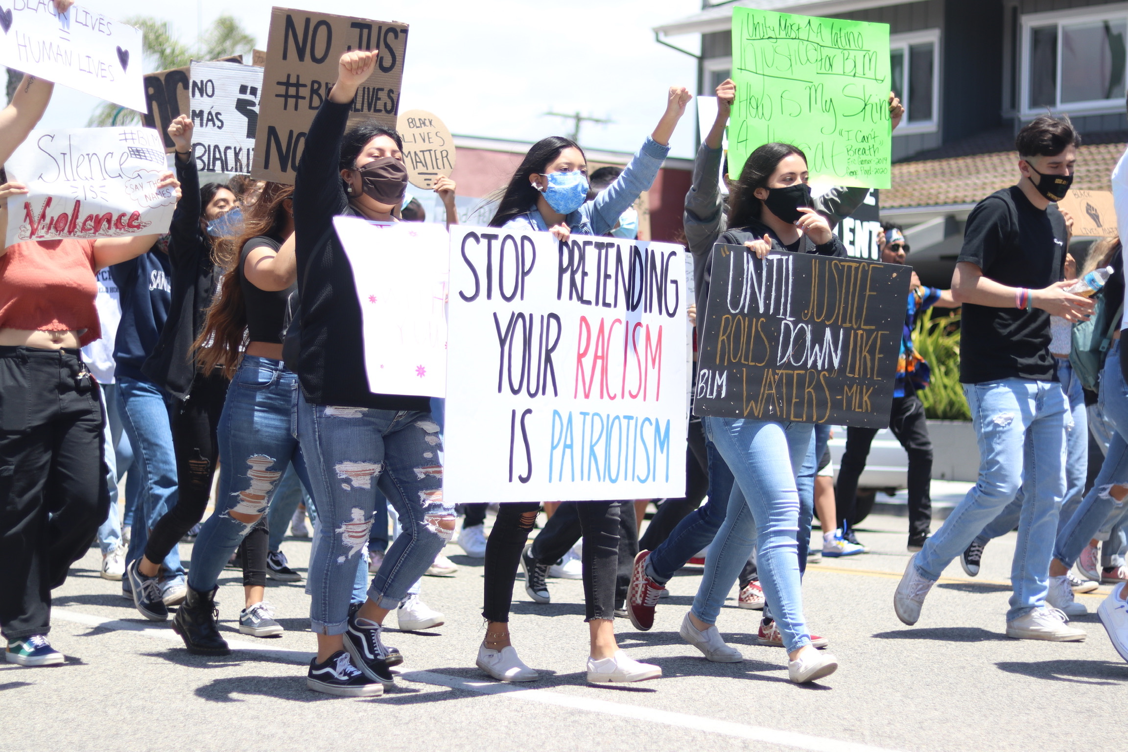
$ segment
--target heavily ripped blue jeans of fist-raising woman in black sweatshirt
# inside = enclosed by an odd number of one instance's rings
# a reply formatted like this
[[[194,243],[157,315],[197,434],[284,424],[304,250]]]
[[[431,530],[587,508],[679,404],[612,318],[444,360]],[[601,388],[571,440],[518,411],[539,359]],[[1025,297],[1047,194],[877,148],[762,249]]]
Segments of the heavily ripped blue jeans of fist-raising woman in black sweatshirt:
[[[368,589],[377,605],[397,608],[450,540],[455,507],[442,498],[442,437],[430,412],[310,405],[300,392],[297,410],[320,522],[309,563],[310,628],[341,635],[378,487],[403,532]]]

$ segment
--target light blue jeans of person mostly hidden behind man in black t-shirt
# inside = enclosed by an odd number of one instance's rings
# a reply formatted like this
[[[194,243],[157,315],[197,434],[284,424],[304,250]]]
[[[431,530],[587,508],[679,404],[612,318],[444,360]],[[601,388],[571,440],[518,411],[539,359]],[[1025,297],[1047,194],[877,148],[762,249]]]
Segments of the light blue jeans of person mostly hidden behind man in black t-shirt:
[[[1076,513],[1081,506],[1081,499],[1085,495],[1085,480],[1089,475],[1089,413],[1085,409],[1085,391],[1081,386],[1081,380],[1074,374],[1069,360],[1057,357],[1058,381],[1061,383],[1061,391],[1069,400],[1069,415],[1072,425],[1066,427],[1065,439],[1065,502],[1061,504],[1061,512],[1058,514],[1058,532]],[[979,543],[1006,533],[1019,527],[1019,517],[1022,513],[1022,502],[1025,498],[1023,489],[1015,494],[1014,501],[999,512],[982,532],[976,536]]]

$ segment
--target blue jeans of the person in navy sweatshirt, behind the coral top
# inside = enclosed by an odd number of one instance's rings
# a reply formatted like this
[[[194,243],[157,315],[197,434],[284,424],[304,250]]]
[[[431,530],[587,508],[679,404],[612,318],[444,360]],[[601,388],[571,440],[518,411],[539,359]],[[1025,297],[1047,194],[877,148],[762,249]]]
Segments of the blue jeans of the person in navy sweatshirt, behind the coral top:
[[[138,474],[138,501],[126,564],[141,558],[149,529],[176,504],[176,454],[168,416],[169,397],[151,381],[117,377],[122,426],[133,448],[130,472]],[[126,484],[129,485],[129,484]],[[162,561],[166,578],[184,577],[176,546]]]

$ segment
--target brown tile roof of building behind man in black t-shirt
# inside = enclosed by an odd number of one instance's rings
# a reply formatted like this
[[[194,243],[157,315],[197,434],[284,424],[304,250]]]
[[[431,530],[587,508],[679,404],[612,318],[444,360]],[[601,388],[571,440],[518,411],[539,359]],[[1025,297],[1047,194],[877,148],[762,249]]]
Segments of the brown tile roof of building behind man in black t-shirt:
[[[1110,191],[1112,168],[1123,153],[1128,133],[1123,132],[1083,136],[1074,187]],[[1013,143],[1013,131],[988,131],[897,162],[893,187],[881,192],[881,207],[973,204],[1014,185],[1019,153]]]

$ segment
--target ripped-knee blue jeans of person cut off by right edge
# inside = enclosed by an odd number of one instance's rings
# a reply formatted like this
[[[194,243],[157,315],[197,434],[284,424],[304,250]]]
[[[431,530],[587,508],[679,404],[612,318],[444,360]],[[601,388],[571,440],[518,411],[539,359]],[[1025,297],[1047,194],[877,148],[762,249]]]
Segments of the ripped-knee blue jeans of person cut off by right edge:
[[[1081,551],[1091,539],[1098,537],[1102,528],[1114,527],[1120,521],[1126,506],[1109,493],[1114,485],[1128,484],[1128,441],[1125,439],[1128,436],[1128,386],[1120,374],[1119,339],[1112,343],[1101,370],[1098,405],[1113,432],[1096,481],[1085,494],[1077,512],[1058,533],[1054,558],[1067,567],[1076,563]]]

